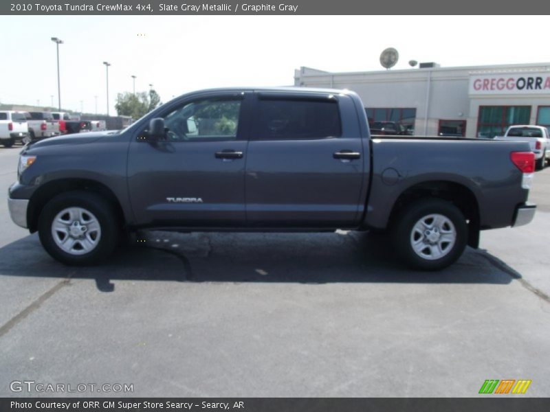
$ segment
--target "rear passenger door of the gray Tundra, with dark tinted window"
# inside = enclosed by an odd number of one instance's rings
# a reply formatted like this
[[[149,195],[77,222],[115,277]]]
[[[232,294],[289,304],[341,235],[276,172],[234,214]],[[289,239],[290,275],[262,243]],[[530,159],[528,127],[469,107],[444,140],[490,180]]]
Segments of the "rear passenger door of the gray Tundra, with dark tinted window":
[[[245,173],[252,227],[351,227],[364,151],[346,95],[255,93]]]

